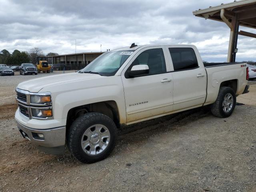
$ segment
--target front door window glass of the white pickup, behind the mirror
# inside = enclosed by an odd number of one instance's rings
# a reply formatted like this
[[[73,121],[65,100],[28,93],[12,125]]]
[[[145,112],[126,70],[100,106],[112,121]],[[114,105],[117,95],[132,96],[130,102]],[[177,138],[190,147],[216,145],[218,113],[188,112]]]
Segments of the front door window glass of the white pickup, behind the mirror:
[[[142,52],[134,60],[132,66],[134,65],[148,65],[150,75],[166,72],[164,53],[161,48],[149,49]]]

